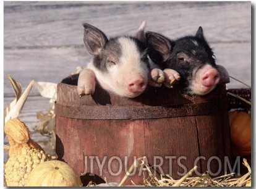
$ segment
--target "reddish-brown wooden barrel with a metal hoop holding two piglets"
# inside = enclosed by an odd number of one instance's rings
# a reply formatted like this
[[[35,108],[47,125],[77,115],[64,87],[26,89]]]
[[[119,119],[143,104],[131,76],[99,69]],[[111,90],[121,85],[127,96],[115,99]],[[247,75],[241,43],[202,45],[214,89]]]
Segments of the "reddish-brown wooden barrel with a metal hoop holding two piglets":
[[[221,175],[226,160],[232,161],[224,85],[206,96],[148,87],[129,99],[98,86],[95,94],[80,98],[72,84],[58,84],[56,154],[79,174],[87,173],[84,185],[98,176],[121,182],[139,157],[155,167],[156,175],[174,179],[195,165],[195,176],[206,171]],[[143,167],[134,169],[125,185],[141,183],[143,172]]]

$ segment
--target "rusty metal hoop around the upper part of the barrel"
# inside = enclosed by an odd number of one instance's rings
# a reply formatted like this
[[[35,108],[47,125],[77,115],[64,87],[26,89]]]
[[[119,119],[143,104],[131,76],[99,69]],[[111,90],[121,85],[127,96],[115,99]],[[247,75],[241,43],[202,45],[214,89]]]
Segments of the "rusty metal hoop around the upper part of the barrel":
[[[72,119],[159,119],[228,111],[227,99],[181,106],[72,106],[55,103],[57,116]]]

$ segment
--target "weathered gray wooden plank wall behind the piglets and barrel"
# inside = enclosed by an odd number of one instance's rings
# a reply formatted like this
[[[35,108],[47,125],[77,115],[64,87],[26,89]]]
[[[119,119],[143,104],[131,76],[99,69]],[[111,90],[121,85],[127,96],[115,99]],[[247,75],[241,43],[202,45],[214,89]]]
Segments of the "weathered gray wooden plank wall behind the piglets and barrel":
[[[107,36],[133,35],[143,20],[146,30],[169,38],[195,34],[205,38],[230,75],[251,83],[251,3],[247,2],[4,2],[4,107],[14,93],[10,74],[22,83],[30,80],[59,83],[86,65],[91,56],[83,44],[83,22]],[[231,80],[228,88],[245,86]],[[20,119],[48,153],[48,138],[33,132],[36,111],[47,111],[49,99],[33,89]],[[4,140],[7,143],[7,139]],[[7,155],[5,154],[5,158]]]

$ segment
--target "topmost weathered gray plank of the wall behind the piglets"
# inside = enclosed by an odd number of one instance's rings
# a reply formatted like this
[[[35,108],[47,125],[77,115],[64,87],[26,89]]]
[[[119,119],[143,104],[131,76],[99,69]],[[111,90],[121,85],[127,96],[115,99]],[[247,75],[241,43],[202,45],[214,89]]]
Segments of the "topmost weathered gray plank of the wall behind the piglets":
[[[210,42],[250,41],[250,2],[4,2],[4,45],[82,45],[82,22],[108,36],[147,30],[176,38],[205,29]],[[18,19],[19,18],[19,19]]]

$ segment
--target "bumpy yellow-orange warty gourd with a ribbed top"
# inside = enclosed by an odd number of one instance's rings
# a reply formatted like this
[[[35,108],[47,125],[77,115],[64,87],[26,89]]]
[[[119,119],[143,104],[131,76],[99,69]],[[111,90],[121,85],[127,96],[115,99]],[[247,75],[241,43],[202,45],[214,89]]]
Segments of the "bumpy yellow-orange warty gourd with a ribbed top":
[[[9,140],[9,159],[4,166],[4,179],[7,187],[23,187],[27,177],[38,164],[51,160],[43,148],[30,138],[27,125],[18,118],[4,125]]]

